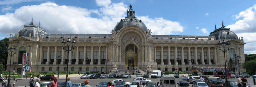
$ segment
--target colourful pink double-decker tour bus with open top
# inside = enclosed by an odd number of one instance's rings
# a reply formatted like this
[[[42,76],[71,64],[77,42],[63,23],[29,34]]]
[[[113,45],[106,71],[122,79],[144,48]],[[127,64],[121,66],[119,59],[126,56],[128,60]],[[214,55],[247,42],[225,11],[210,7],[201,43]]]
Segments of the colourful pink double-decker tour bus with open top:
[[[227,68],[227,78],[231,78],[230,67]],[[203,77],[220,77],[224,79],[226,76],[224,67],[193,67],[189,70],[189,76],[203,76]]]

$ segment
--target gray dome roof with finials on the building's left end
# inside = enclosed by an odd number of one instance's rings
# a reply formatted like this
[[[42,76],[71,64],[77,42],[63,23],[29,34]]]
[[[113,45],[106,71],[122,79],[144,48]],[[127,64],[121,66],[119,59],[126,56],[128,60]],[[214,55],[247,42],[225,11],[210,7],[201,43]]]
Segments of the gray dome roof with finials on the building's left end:
[[[41,29],[40,23],[38,26],[33,24],[33,19],[29,25],[24,25],[24,28],[21,28],[18,30],[15,34],[15,37],[17,37],[17,34],[23,37],[29,37],[29,34],[31,34],[31,37],[36,37],[36,34],[38,34],[38,37],[40,37],[43,34],[46,34],[45,30]]]

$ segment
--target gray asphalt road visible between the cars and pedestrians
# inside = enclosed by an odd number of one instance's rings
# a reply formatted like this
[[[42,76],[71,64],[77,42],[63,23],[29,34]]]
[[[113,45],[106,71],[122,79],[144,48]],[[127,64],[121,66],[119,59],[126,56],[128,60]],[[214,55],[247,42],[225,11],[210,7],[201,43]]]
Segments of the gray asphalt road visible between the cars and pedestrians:
[[[114,79],[116,79],[116,78],[114,78]],[[96,87],[96,85],[99,84],[100,82],[108,82],[108,81],[112,81],[114,79],[113,78],[102,78],[102,79],[100,79],[100,78],[96,78],[96,79],[89,79],[89,78],[87,78],[87,79],[80,79],[80,77],[71,77],[70,81],[72,83],[84,83],[85,80],[89,80],[89,85],[91,85],[93,87]],[[120,79],[120,78],[117,78],[117,79]],[[123,79],[126,82],[130,82],[131,83],[133,81],[134,77],[132,77],[132,78],[121,78],[121,79]],[[159,80],[160,80],[160,78],[148,78],[148,79],[150,79],[152,82],[155,82],[155,83],[159,82]],[[252,87],[254,87],[253,86],[253,78],[250,77],[250,78],[246,78],[246,79],[247,79],[248,83]],[[225,79],[223,79],[223,80],[225,80]],[[230,81],[237,81],[237,78],[230,78],[228,80],[230,80]],[[11,80],[11,85],[12,85],[12,81],[13,80]],[[25,85],[28,86],[29,85],[28,81],[29,81],[29,79],[17,79],[16,87],[24,87]],[[176,83],[178,83],[179,81],[185,81],[185,80],[182,80],[182,78],[176,78]],[[49,80],[40,81],[40,83],[43,83],[43,82],[52,82],[52,81],[49,81]],[[64,77],[60,78],[58,80],[58,82],[65,82],[65,78]],[[192,84],[190,84],[190,87],[192,87]]]

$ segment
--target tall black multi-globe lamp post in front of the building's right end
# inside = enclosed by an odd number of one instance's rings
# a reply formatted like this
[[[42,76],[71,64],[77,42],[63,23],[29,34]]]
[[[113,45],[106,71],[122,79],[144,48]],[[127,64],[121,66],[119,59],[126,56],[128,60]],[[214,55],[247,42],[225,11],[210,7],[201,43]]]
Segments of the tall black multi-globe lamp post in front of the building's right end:
[[[227,52],[228,50],[229,50],[229,48],[230,48],[230,43],[227,41],[227,42],[225,42],[224,40],[222,41],[222,42],[220,42],[219,41],[219,43],[218,43],[218,46],[219,46],[219,49],[224,53],[224,62],[225,62],[225,71],[226,71],[226,80],[225,80],[225,82],[228,82],[228,78],[227,78],[227,73],[228,73],[228,71],[227,71],[227,66],[226,66],[226,56],[225,56],[225,52]],[[221,49],[221,48],[223,48],[223,50]],[[225,85],[228,85],[228,83],[225,83]]]

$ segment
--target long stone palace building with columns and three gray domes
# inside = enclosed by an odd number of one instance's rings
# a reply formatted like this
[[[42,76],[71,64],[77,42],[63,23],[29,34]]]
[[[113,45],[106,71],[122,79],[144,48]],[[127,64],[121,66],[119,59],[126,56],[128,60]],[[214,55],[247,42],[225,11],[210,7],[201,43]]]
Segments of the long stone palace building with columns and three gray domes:
[[[148,63],[152,69],[161,71],[175,71],[178,66],[179,71],[186,71],[189,70],[189,65],[224,67],[224,53],[217,44],[222,40],[231,43],[230,50],[226,52],[226,60],[231,61],[228,66],[234,68],[235,53],[241,56],[239,63],[244,62],[243,37],[237,37],[223,26],[223,22],[222,27],[216,29],[215,26],[209,36],[151,35],[152,32],[143,21],[134,15],[135,11],[130,5],[127,17],[116,24],[112,34],[47,34],[32,19],[29,25],[24,25],[15,35],[10,34],[9,47],[18,48],[17,53],[12,56],[11,69],[16,68],[16,72],[21,72],[22,53],[28,53],[27,59],[31,61],[27,66],[30,66],[30,71],[35,72],[69,70],[66,68],[67,63],[71,71],[101,73],[112,70],[114,63],[120,72],[131,72],[133,68],[135,71],[145,71]],[[62,40],[67,41],[68,38],[76,41],[74,50],[69,54],[61,46]],[[62,58],[57,59],[56,56]],[[85,58],[90,58],[91,61],[86,61]],[[9,64],[10,56],[7,70]]]

